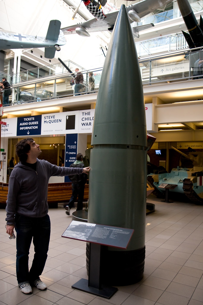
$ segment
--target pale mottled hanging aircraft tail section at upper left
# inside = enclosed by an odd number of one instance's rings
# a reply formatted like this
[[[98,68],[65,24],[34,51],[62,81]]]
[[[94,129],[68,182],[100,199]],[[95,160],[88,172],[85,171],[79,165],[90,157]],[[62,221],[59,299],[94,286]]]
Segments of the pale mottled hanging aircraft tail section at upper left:
[[[23,35],[19,33],[0,30],[0,48],[21,49],[21,48],[42,48],[45,47],[44,57],[54,58],[55,51],[60,51],[60,45],[65,45],[66,39],[60,30],[61,22],[51,20],[46,37]]]

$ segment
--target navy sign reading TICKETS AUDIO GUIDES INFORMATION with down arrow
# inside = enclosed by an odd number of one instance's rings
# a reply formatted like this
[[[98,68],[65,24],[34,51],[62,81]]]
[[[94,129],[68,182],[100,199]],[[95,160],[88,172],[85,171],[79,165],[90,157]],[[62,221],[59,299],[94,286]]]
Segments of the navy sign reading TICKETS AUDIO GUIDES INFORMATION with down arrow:
[[[17,136],[41,135],[41,115],[32,117],[18,117]]]

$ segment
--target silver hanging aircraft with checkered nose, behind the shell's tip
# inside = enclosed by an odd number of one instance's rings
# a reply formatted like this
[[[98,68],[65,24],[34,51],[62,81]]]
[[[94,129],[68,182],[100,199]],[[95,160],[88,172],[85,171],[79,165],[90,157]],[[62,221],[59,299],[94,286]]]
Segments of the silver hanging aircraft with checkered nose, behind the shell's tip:
[[[85,22],[64,27],[61,30],[66,34],[77,33],[80,36],[90,36],[89,32],[105,31],[108,30],[110,33],[114,29],[114,24],[118,15],[119,10],[111,3],[107,3],[107,0],[81,0],[84,2],[86,8],[94,16],[93,19],[89,19]],[[140,18],[145,15],[152,13],[156,9],[164,8],[172,0],[142,0],[136,4],[128,6],[126,8],[130,22],[140,22]],[[79,6],[76,9],[72,19],[75,18],[78,12]],[[135,38],[139,37],[139,31],[145,30],[149,27],[154,27],[153,23],[137,25],[132,27],[133,35]]]

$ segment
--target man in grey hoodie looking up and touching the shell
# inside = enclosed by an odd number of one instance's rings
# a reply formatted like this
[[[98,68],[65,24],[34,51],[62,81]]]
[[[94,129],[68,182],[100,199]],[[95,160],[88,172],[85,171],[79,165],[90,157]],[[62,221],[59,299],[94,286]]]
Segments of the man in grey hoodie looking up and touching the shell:
[[[86,168],[59,167],[37,157],[42,153],[40,145],[32,138],[16,144],[20,162],[9,178],[6,201],[6,233],[16,230],[16,276],[20,290],[29,294],[31,285],[40,290],[47,285],[40,280],[45,266],[50,239],[47,192],[51,176],[67,176],[89,172]],[[28,268],[29,250],[33,238],[34,258]]]

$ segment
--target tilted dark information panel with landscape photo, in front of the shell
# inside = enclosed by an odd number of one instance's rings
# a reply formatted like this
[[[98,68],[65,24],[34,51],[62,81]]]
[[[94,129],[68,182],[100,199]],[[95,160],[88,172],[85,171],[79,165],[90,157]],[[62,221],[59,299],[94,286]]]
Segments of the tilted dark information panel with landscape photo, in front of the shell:
[[[133,232],[134,229],[118,228],[73,220],[61,236],[93,242],[103,246],[126,249]]]

